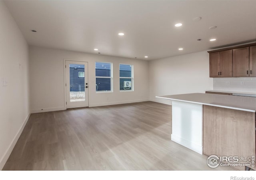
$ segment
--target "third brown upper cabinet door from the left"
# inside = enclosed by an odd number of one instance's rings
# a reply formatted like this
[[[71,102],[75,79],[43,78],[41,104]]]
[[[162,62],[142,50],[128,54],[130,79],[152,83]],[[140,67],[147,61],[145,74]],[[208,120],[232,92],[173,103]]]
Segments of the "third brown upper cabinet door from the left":
[[[233,77],[249,76],[249,47],[233,49]]]

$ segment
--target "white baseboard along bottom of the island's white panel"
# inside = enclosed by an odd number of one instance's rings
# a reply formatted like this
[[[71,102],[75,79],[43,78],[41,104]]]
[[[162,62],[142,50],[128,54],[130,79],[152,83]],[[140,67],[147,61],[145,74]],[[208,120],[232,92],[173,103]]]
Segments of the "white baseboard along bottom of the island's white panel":
[[[186,139],[176,136],[174,134],[171,135],[171,140],[174,142],[177,142],[178,144],[185,146],[186,148],[189,148],[199,154],[203,154],[203,147],[198,144],[195,144],[189,140],[186,140]]]

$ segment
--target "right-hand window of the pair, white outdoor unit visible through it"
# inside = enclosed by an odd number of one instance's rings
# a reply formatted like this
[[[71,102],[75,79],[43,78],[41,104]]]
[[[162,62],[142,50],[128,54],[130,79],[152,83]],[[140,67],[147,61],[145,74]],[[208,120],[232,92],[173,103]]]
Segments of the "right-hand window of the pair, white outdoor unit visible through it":
[[[119,64],[120,91],[133,90],[133,66]]]

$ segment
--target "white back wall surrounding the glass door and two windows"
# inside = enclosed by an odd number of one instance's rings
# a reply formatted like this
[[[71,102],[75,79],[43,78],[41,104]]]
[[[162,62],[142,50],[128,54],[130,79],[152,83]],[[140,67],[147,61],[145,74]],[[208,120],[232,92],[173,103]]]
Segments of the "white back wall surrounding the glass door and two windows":
[[[65,109],[64,59],[88,62],[90,107],[141,102],[149,99],[148,61],[31,46],[31,112],[45,112]],[[114,92],[96,93],[96,61],[113,63]],[[120,92],[119,90],[120,63],[134,65],[134,92]]]

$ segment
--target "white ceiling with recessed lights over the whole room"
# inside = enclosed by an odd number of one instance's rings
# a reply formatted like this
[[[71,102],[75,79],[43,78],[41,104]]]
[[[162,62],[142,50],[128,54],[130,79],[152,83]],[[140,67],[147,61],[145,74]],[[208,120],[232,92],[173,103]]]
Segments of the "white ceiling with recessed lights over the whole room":
[[[5,4],[28,44],[47,48],[154,60],[256,41],[254,0],[19,0]],[[202,19],[194,21],[198,16]],[[183,25],[175,27],[178,22]],[[211,38],[216,41],[210,42]]]

